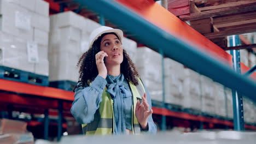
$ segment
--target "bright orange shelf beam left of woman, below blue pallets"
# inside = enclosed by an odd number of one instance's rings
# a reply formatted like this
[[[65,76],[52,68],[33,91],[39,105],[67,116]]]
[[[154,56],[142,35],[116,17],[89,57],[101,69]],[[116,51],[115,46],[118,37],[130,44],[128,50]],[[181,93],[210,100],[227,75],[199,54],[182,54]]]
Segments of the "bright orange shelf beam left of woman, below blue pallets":
[[[0,79],[0,90],[38,95],[46,98],[74,100],[74,93],[53,87],[43,87],[28,83]],[[32,102],[33,103],[33,102]]]

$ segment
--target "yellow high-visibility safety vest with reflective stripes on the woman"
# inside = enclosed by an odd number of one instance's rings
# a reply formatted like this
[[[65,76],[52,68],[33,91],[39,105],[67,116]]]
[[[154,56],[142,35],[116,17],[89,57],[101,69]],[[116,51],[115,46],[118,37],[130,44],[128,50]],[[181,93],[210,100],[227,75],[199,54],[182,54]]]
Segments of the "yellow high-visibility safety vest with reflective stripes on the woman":
[[[141,79],[138,79],[138,86],[133,85],[129,82],[132,91],[132,133],[137,135],[141,133],[141,128],[139,127],[138,120],[135,116],[135,108],[137,103],[137,98],[141,99],[145,93],[145,88]],[[105,91],[102,93],[102,101],[100,103],[100,108],[96,110],[94,115],[94,121],[88,124],[82,124],[83,134],[85,135],[112,135],[114,131],[114,110],[113,110],[113,100],[109,93]]]

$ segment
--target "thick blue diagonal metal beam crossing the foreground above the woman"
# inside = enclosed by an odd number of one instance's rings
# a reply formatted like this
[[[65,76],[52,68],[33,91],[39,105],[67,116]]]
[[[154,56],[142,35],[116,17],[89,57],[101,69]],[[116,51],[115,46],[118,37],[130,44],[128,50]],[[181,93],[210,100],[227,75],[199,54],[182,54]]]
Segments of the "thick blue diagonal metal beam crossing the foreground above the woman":
[[[97,13],[104,14],[104,16],[107,17],[109,21],[115,23],[115,25],[133,32],[137,40],[147,44],[151,49],[155,51],[161,49],[166,57],[172,58],[186,65],[188,68],[197,71],[197,73],[206,75],[227,87],[237,89],[238,92],[256,101],[255,81],[234,73],[226,64],[196,49],[195,47],[197,46],[191,41],[174,37],[174,34],[167,33],[117,2],[109,0],[74,1],[97,11]]]

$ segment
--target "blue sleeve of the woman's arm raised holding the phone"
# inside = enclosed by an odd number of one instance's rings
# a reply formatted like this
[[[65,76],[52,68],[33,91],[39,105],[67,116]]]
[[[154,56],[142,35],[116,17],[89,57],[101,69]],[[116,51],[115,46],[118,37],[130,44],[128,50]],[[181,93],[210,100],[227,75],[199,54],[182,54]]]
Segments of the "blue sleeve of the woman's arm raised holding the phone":
[[[74,101],[70,111],[78,123],[84,124],[94,121],[94,114],[100,107],[101,95],[106,84],[106,79],[98,75],[91,86],[75,88]]]

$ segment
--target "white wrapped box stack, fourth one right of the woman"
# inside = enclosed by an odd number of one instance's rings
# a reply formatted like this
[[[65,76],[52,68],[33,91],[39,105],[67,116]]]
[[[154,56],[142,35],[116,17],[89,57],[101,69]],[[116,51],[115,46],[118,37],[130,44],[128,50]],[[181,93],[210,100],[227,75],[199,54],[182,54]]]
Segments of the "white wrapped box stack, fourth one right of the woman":
[[[202,84],[202,112],[214,115],[215,95],[213,95],[213,81],[203,75],[200,76],[200,80]]]

